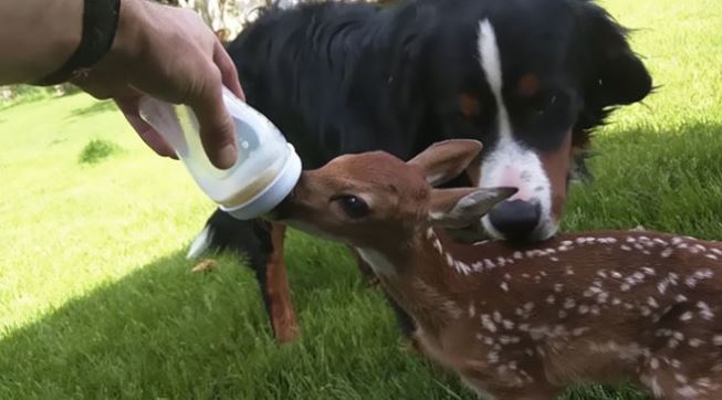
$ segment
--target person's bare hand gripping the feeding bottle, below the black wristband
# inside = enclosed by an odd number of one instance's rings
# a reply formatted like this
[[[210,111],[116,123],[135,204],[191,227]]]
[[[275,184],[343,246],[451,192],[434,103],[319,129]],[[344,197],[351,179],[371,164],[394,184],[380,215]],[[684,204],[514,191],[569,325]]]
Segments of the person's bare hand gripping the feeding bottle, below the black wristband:
[[[72,81],[96,98],[113,98],[140,138],[158,155],[172,148],[138,110],[150,95],[187,104],[200,125],[203,148],[218,168],[233,165],[233,122],[223,106],[222,85],[244,98],[230,56],[198,14],[143,0],[123,0],[113,46],[87,73]]]

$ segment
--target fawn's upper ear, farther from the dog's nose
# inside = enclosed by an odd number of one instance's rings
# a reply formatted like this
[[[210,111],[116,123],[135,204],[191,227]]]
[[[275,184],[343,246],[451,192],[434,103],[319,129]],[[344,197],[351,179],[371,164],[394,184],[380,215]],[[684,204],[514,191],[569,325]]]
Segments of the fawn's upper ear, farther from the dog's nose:
[[[447,182],[464,171],[481,151],[478,140],[457,139],[436,143],[408,161],[421,168],[432,187]]]

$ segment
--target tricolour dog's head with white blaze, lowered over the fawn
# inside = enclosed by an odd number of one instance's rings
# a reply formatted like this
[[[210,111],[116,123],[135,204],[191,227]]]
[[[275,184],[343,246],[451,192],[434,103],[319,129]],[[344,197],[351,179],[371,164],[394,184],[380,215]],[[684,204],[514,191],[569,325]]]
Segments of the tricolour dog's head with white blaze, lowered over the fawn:
[[[482,223],[498,239],[538,241],[559,224],[588,136],[615,107],[645,98],[651,77],[626,31],[582,0],[448,1],[415,49],[418,80],[447,138],[485,147],[479,187],[516,187]]]

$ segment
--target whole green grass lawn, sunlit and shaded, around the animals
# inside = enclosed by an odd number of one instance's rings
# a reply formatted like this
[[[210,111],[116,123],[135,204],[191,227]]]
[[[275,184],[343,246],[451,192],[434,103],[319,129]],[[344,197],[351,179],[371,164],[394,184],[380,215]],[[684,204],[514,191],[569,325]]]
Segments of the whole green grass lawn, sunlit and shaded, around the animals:
[[[607,0],[658,92],[597,136],[565,230],[722,240],[722,2]],[[291,233],[303,339],[278,346],[252,273],[185,251],[213,206],[108,103],[0,110],[0,399],[472,399],[405,351],[342,246]],[[568,399],[642,399],[578,388]]]

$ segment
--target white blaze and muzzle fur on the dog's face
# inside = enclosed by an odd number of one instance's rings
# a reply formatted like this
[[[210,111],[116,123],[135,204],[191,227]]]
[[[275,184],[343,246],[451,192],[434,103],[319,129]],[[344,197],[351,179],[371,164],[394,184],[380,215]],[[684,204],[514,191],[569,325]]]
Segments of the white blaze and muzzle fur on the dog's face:
[[[479,23],[478,46],[481,69],[496,99],[499,125],[499,140],[481,165],[479,186],[516,187],[519,191],[510,200],[537,201],[542,212],[533,235],[535,239],[546,239],[556,231],[556,224],[552,221],[551,183],[536,152],[524,148],[513,137],[509,112],[502,96],[503,76],[499,45],[489,20]],[[491,235],[504,238],[491,224],[489,217],[484,217],[482,223]]]

